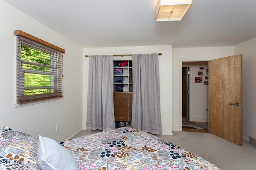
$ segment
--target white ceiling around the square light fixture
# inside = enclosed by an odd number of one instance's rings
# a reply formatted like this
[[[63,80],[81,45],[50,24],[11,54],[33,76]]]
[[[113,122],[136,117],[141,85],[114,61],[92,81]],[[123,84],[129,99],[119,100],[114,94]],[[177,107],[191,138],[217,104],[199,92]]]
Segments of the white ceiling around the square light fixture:
[[[81,47],[234,46],[256,37],[256,0],[192,0],[155,21],[157,0],[4,0]]]

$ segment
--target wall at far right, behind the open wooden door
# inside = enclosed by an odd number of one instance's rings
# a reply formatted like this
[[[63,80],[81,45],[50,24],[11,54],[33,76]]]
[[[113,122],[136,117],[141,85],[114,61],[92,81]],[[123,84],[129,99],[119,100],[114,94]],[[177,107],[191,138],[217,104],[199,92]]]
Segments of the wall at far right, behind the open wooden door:
[[[242,54],[243,79],[243,137],[256,137],[256,38],[240,43],[234,47],[235,54]]]

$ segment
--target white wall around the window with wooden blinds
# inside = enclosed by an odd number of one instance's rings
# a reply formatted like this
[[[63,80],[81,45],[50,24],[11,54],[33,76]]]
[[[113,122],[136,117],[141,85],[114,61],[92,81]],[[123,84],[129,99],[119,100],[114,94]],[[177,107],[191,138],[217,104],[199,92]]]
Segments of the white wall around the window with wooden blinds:
[[[82,47],[0,0],[0,127],[7,125],[38,137],[69,138],[82,129]],[[52,43],[64,53],[64,97],[60,100],[14,108],[16,54],[14,30]],[[60,130],[56,131],[56,125]]]

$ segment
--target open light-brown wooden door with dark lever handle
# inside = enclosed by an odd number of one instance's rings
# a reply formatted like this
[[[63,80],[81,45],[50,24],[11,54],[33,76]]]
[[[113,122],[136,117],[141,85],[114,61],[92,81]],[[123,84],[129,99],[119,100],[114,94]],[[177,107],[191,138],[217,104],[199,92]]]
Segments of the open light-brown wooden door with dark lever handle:
[[[242,54],[209,61],[209,132],[242,146]]]

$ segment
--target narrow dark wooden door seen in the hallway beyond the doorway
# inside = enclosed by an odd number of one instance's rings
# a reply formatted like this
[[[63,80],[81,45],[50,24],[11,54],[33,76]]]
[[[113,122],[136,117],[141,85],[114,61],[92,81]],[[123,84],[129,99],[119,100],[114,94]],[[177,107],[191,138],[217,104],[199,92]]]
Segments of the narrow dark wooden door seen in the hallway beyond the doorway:
[[[188,67],[182,67],[182,120],[188,121]]]

